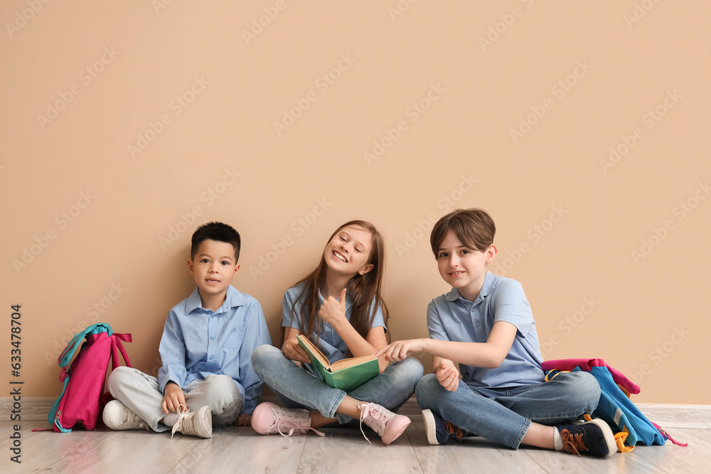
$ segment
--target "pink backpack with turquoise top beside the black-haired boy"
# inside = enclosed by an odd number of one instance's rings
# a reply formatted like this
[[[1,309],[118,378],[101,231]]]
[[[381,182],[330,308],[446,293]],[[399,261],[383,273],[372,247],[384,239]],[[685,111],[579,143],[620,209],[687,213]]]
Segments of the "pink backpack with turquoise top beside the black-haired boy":
[[[67,369],[70,360],[82,340],[79,355],[71,367]],[[62,367],[60,382],[64,389],[49,412],[48,421],[54,431],[68,433],[77,423],[85,429],[94,429],[97,419],[101,416],[100,404],[108,402],[110,395],[104,394],[106,370],[109,359],[111,369],[119,366],[121,352],[127,367],[131,367],[122,340],[131,342],[130,334],[117,334],[106,323],[92,324],[74,338],[59,356],[59,366]]]

